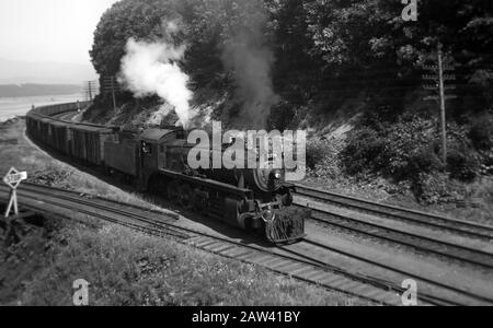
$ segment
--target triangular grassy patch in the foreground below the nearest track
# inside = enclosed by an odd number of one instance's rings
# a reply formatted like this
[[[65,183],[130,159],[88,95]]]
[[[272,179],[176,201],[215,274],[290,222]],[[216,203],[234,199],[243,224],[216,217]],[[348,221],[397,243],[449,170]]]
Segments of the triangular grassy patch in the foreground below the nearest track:
[[[67,225],[66,246],[25,284],[16,304],[71,305],[72,283],[90,283],[91,305],[364,305],[345,295],[271,274],[123,227]]]

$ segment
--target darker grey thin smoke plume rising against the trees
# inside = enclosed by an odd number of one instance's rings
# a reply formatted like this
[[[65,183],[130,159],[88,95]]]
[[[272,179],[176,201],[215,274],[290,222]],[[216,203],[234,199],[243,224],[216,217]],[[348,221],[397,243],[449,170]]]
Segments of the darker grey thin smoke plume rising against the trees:
[[[229,35],[222,49],[222,62],[233,71],[238,84],[237,93],[243,106],[236,125],[249,128],[266,128],[271,107],[278,103],[272,83],[274,54],[265,44],[263,28],[266,15],[257,13],[255,20],[245,22],[245,28],[239,28]]]

